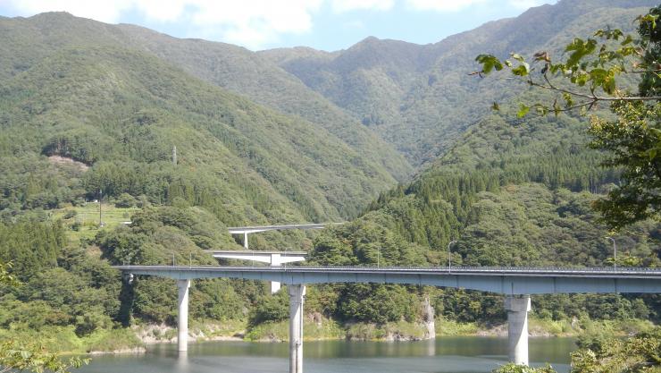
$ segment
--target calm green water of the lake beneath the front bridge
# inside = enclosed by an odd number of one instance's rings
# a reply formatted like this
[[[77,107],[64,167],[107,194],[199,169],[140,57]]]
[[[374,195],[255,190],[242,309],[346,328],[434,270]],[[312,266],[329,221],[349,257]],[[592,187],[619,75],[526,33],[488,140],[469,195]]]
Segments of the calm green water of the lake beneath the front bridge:
[[[566,372],[571,338],[530,340],[531,365],[550,362]],[[289,371],[288,343],[190,344],[179,357],[175,344],[153,345],[144,355],[97,356],[80,373],[260,373]],[[440,337],[423,342],[305,342],[305,373],[482,373],[506,361],[507,340]]]

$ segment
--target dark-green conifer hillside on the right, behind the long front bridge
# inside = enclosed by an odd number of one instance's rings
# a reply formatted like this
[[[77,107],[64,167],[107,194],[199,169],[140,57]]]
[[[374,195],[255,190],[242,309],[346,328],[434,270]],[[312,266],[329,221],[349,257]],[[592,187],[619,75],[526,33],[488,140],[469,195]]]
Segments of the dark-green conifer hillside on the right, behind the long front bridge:
[[[584,124],[565,115],[524,123],[513,117],[511,112],[485,118],[413,182],[381,194],[351,224],[324,232],[314,242],[312,260],[445,267],[448,243],[456,241],[455,266],[608,267],[610,235],[618,244],[619,266],[659,266],[658,222],[619,233],[598,223],[590,203],[616,182],[617,173],[599,168],[601,156],[585,148]],[[424,297],[450,320],[489,323],[505,317],[501,297],[480,292],[366,284],[321,292],[320,299],[332,301],[315,310],[339,319],[415,319],[419,310],[408,305]],[[403,292],[412,298],[405,301]],[[548,320],[661,317],[658,296],[536,296],[532,309]]]

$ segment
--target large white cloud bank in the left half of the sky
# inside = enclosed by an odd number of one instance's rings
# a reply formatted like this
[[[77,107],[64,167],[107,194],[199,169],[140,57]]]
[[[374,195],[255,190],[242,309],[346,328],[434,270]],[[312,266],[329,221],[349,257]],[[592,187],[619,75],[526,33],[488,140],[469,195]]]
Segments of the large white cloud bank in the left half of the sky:
[[[312,15],[323,0],[0,0],[21,15],[65,11],[96,21],[116,23],[122,13],[137,11],[147,21],[188,24],[189,33],[203,34],[246,47],[259,48],[281,34],[312,29]],[[339,9],[382,3],[339,0]]]

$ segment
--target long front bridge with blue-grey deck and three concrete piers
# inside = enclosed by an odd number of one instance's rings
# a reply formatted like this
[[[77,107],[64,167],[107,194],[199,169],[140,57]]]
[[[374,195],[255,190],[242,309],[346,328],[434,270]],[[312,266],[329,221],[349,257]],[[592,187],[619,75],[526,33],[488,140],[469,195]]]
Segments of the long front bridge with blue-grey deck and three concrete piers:
[[[289,372],[303,372],[305,284],[417,284],[506,295],[509,360],[528,364],[531,294],[661,292],[661,269],[538,267],[168,267],[118,266],[125,276],[162,276],[179,287],[179,351],[188,343],[188,288],[198,278],[277,281],[289,286]]]

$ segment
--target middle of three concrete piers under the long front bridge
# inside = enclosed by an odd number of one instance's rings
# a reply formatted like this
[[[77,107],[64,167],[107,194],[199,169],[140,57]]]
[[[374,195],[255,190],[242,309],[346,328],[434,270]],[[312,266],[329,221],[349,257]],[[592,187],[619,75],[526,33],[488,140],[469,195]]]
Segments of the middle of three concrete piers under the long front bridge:
[[[303,373],[305,285],[289,285],[289,373]]]

